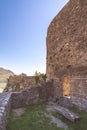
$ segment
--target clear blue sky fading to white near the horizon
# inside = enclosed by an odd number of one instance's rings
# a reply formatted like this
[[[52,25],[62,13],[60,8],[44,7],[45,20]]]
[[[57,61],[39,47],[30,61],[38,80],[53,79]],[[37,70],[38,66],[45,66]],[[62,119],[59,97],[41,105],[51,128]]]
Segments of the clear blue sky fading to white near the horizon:
[[[0,0],[0,67],[46,71],[47,28],[68,0]]]

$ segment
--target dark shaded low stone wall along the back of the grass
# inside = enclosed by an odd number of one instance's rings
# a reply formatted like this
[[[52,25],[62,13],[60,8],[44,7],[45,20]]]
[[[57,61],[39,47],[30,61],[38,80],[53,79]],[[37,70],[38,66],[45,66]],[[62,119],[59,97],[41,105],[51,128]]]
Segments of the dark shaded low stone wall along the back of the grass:
[[[49,100],[52,97],[52,82],[33,85],[20,92],[12,93],[12,108],[24,107]]]

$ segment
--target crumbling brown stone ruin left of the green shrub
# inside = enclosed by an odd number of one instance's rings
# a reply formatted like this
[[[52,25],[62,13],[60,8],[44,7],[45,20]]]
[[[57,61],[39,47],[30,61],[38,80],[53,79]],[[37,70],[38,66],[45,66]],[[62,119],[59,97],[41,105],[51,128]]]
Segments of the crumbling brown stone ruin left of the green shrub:
[[[36,84],[35,76],[27,76],[26,74],[14,75],[8,78],[7,87],[4,91],[18,91],[34,84]]]

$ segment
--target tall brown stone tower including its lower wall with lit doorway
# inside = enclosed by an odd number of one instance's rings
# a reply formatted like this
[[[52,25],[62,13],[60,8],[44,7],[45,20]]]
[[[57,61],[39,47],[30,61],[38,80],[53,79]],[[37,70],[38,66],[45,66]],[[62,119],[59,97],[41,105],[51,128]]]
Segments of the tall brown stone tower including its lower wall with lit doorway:
[[[46,45],[46,75],[54,81],[54,96],[87,104],[87,0],[65,5],[48,27]]]

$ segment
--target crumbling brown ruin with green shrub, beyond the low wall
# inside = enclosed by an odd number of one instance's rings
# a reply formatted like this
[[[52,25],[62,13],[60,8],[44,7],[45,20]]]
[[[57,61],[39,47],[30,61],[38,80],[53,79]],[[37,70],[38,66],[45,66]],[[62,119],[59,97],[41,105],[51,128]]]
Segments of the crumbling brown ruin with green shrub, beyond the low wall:
[[[7,79],[7,85],[4,89],[4,92],[14,92],[20,91],[25,87],[29,87],[30,85],[35,85],[37,83],[43,83],[45,81],[45,75],[40,74],[38,76],[27,76],[22,73],[20,75],[11,75]]]

